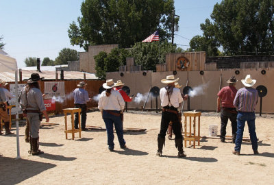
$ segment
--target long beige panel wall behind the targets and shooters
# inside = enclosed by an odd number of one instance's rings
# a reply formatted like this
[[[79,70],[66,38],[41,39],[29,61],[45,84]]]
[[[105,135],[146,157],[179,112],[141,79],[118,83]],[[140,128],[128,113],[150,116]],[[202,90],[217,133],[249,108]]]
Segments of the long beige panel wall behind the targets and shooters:
[[[199,71],[177,71],[177,75],[175,77],[179,77],[179,84],[182,85],[181,92],[183,88],[186,86],[186,80],[188,79],[188,86],[195,88],[196,86],[200,86],[201,84],[208,84],[208,87],[204,89],[203,95],[198,95],[196,97],[190,97],[190,110],[210,110],[216,111],[216,101],[217,94],[220,88],[220,79],[222,76],[221,88],[227,86],[227,79],[231,76],[235,76],[239,81],[236,84],[236,88],[242,88],[243,85],[240,82],[240,79],[244,79],[246,75],[250,74],[253,79],[256,79],[257,82],[253,86],[256,88],[259,85],[266,86],[268,93],[266,97],[262,98],[262,112],[263,113],[274,113],[274,71],[266,70],[266,74],[262,75],[260,70],[258,71],[242,71],[239,70],[240,74],[236,75],[235,71],[204,71],[203,75],[200,75]],[[122,82],[129,86],[131,89],[130,95],[137,95],[137,93],[148,93],[149,88],[153,86],[158,86],[158,88],[164,87],[164,84],[161,83],[161,79],[165,78],[166,75],[173,75],[172,71],[169,72],[157,72],[151,73],[147,71],[147,75],[142,75],[143,71],[124,73],[124,76],[121,77],[119,72],[107,73],[107,78],[112,78],[114,81],[121,79]],[[145,108],[155,109],[155,98],[152,98],[152,101],[148,99],[147,105]],[[141,103],[128,103],[128,108],[141,108],[144,106],[145,102]],[[158,97],[158,109],[160,108],[160,98]],[[184,103],[184,110],[187,109],[187,101]],[[258,101],[258,105],[256,107],[256,112],[260,112],[260,98]]]

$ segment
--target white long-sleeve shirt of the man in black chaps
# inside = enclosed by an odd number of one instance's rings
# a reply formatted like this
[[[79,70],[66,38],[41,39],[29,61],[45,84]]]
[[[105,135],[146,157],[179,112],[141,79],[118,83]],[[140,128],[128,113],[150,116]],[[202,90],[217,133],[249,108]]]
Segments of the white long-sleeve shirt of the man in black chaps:
[[[168,95],[166,95],[166,88],[161,88],[160,89],[160,99],[161,99],[162,107],[168,106],[169,99],[170,99],[171,105],[175,108],[179,108],[179,103],[181,103],[184,100],[179,88],[173,88],[173,93],[169,97],[168,97]]]

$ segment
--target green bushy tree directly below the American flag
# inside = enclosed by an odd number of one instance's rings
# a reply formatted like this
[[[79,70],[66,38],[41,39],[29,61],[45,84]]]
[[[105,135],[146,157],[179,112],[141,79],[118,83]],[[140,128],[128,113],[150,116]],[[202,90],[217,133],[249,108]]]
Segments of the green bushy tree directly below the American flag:
[[[156,64],[166,62],[166,53],[181,53],[182,49],[165,42],[137,42],[129,49],[129,56],[135,64],[142,65],[142,70],[155,70]]]

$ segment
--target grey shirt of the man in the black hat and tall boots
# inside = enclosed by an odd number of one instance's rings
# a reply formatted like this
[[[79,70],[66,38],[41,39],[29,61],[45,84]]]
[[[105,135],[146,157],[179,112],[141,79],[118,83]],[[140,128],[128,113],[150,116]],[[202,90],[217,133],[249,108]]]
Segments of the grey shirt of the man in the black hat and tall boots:
[[[38,88],[31,88],[29,92],[27,92],[26,99],[26,90],[25,88],[21,91],[21,106],[26,108],[27,110],[47,110],[44,104],[44,100],[42,98],[41,90]]]

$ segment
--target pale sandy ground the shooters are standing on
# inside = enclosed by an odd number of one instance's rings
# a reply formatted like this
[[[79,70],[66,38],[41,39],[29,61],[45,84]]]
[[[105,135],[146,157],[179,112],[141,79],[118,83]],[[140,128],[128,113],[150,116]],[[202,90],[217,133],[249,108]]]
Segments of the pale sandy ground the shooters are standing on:
[[[115,149],[110,152],[105,130],[82,132],[82,138],[76,134],[75,140],[69,134],[66,140],[64,116],[52,116],[49,123],[58,125],[40,129],[40,149],[45,151],[40,156],[27,153],[21,126],[19,160],[16,136],[0,136],[0,184],[274,184],[273,116],[256,119],[258,156],[248,141],[242,143],[241,155],[234,156],[232,140],[201,138],[196,149],[184,147],[187,157],[182,159],[177,158],[174,140],[168,139],[164,156],[155,156],[160,119],[160,113],[125,113],[125,128],[147,131],[125,132],[127,149],[120,149],[115,134]],[[219,116],[203,113],[201,136],[208,136],[209,125],[220,129]],[[87,126],[105,128],[101,114],[88,112]],[[230,125],[227,135],[232,135]],[[244,136],[249,136],[247,125]]]

